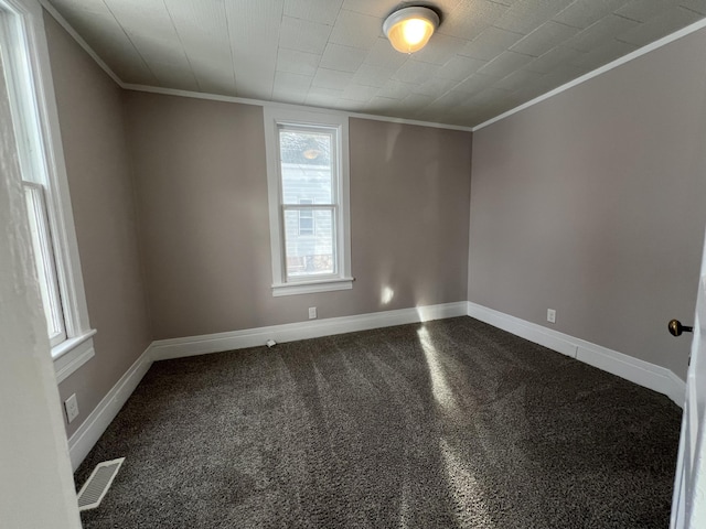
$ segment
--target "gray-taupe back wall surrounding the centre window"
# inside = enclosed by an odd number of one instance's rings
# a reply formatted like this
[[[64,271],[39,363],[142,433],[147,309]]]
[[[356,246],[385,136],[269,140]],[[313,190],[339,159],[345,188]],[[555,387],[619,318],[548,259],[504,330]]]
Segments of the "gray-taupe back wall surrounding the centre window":
[[[353,289],[272,298],[261,108],[126,100],[156,339],[466,300],[470,133],[352,119]]]

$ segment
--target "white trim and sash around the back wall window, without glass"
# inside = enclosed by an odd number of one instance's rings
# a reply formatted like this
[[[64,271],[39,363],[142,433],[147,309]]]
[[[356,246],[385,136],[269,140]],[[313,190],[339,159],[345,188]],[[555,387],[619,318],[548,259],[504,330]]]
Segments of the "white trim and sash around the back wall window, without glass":
[[[328,112],[293,110],[277,107],[264,108],[265,153],[267,160],[267,190],[269,203],[270,249],[272,261],[272,295],[308,294],[335,290],[350,290],[354,278],[351,274],[351,206],[350,206],[350,158],[349,118]],[[336,222],[336,251],[339,271],[335,277],[286,281],[284,226],[281,219],[281,192],[279,177],[278,125],[335,127],[339,152],[339,208]]]

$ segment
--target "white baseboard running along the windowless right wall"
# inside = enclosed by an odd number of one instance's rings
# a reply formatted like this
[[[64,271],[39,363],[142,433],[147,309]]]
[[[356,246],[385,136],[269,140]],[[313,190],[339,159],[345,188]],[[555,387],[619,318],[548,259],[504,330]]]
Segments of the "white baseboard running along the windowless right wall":
[[[576,358],[593,367],[667,396],[684,406],[686,384],[665,367],[624,355],[515,316],[468,302],[468,315],[516,336]]]

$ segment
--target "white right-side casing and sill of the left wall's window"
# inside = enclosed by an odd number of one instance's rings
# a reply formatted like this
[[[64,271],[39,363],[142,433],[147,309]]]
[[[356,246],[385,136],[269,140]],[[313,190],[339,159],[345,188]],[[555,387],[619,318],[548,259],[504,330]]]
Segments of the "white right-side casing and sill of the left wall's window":
[[[93,336],[96,331],[90,328],[81,273],[42,7],[38,0],[0,0],[0,8],[17,15],[22,26],[20,37],[25,44],[33,90],[28,97],[34,106],[42,151],[39,158],[50,191],[46,196],[47,215],[67,334],[66,341],[52,347],[54,370],[61,382],[94,356]]]

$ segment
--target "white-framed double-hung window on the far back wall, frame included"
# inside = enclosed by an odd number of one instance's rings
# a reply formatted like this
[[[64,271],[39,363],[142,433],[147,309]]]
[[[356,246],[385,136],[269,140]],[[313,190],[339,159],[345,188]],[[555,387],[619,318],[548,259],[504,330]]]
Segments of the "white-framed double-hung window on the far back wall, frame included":
[[[347,118],[265,109],[272,294],[351,289]]]

